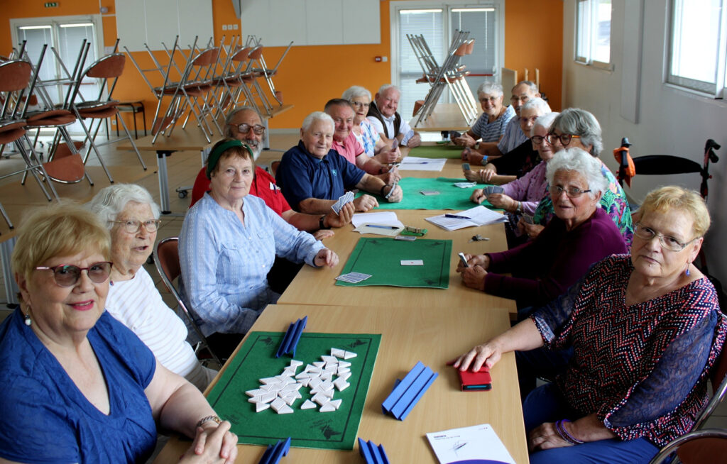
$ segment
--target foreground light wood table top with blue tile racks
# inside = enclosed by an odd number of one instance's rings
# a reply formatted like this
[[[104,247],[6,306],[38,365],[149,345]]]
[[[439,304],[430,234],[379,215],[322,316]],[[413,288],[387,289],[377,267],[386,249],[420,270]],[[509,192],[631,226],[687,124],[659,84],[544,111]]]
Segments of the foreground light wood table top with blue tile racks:
[[[425,436],[427,432],[481,423],[489,423],[494,428],[516,463],[528,463],[514,354],[505,354],[493,367],[493,388],[487,392],[459,391],[457,373],[445,365],[457,354],[507,330],[510,327],[507,312],[460,307],[453,314],[449,306],[433,305],[419,307],[416,312],[376,304],[361,307],[270,305],[252,330],[282,331],[303,315],[308,315],[305,330],[310,332],[382,334],[358,436],[383,444],[392,463],[437,463]],[[394,379],[406,375],[417,361],[431,367],[439,377],[405,420],[383,415],[381,403],[390,393]],[[190,441],[172,439],[154,462],[177,463],[189,445]],[[257,463],[263,452],[263,447],[239,445],[236,462]],[[356,445],[350,451],[292,448],[282,462],[363,461]]]

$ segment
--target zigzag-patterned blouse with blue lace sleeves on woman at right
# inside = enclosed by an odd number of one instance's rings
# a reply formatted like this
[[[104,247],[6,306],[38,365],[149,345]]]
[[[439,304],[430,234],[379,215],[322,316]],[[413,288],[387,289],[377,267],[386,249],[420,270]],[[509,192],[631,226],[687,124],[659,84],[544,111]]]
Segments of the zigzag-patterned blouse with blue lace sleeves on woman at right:
[[[628,255],[603,259],[531,318],[546,346],[574,348],[556,379],[571,407],[595,413],[623,440],[663,447],[686,434],[707,403],[727,323],[704,277],[627,306],[632,271]]]

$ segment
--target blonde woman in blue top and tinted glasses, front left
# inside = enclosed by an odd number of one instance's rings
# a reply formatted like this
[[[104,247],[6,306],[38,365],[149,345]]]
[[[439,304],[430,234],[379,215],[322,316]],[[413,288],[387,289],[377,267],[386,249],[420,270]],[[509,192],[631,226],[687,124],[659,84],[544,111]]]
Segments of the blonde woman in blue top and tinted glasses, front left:
[[[78,205],[39,209],[18,229],[21,302],[0,325],[0,462],[143,463],[158,424],[196,436],[180,462],[233,463],[230,423],[104,311],[109,259],[108,230]]]

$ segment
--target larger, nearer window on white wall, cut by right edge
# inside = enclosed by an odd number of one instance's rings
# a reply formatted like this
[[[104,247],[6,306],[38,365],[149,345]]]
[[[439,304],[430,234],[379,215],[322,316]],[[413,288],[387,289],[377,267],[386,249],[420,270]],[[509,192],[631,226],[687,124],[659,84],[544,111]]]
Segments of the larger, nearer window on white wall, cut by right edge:
[[[723,0],[672,0],[668,83],[724,97],[726,19]]]

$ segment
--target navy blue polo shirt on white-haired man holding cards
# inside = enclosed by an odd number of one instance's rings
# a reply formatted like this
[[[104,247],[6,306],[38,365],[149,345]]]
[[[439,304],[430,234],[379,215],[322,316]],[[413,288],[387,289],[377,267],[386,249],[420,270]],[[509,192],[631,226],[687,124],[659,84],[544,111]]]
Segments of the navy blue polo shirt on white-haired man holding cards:
[[[308,198],[338,200],[346,190],[356,188],[364,174],[335,150],[319,160],[301,141],[285,152],[275,179],[288,203],[300,211],[300,202]]]

